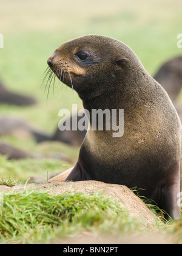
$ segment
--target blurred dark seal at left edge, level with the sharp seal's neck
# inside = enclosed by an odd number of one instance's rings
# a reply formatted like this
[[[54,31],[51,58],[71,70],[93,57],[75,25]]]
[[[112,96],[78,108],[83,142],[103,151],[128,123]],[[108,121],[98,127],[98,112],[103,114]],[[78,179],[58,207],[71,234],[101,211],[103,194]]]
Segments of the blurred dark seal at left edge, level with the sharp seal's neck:
[[[18,93],[13,93],[8,90],[2,82],[0,81],[0,104],[9,104],[9,105],[18,105],[18,106],[26,106],[26,105],[34,105],[36,104],[36,99],[24,96]]]

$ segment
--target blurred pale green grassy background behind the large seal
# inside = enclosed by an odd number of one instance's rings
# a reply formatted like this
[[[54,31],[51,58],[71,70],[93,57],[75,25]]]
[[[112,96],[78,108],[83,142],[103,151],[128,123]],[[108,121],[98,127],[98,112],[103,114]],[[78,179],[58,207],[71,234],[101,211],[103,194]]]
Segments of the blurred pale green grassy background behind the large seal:
[[[113,37],[130,46],[153,75],[163,62],[182,55],[182,49],[177,48],[177,35],[182,33],[181,10],[181,0],[1,0],[4,49],[0,49],[0,79],[14,91],[35,96],[39,103],[32,107],[0,105],[0,113],[24,118],[52,133],[58,126],[61,108],[71,110],[75,103],[82,107],[78,95],[74,97],[65,85],[61,90],[58,81],[48,102],[45,84],[41,87],[47,59],[58,46],[86,34]],[[58,144],[36,148],[32,140],[13,137],[1,140],[28,151],[44,152],[56,147],[56,151],[75,160],[79,151],[64,145],[59,148]],[[59,163],[52,169],[59,169]]]

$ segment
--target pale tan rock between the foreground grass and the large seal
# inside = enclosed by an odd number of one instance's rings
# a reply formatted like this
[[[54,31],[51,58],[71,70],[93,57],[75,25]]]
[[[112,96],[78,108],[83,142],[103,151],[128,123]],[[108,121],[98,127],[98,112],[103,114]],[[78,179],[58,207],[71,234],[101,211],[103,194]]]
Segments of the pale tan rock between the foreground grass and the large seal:
[[[147,229],[155,230],[155,220],[157,217],[147,208],[144,202],[136,196],[129,188],[123,185],[107,184],[97,181],[80,181],[80,182],[48,182],[41,184],[30,184],[26,187],[29,190],[39,191],[49,190],[50,194],[61,195],[66,191],[80,191],[87,194],[95,192],[103,193],[103,196],[115,199],[126,207],[132,218],[140,221]],[[0,186],[0,193],[5,191],[23,191],[24,185],[16,187]]]

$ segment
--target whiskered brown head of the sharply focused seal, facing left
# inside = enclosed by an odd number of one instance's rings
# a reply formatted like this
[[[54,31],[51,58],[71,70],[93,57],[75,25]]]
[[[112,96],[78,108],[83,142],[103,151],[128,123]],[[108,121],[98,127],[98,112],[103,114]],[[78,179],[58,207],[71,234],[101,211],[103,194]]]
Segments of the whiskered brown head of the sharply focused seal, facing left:
[[[115,80],[127,80],[143,66],[126,44],[100,35],[85,35],[62,44],[47,60],[59,80],[74,88],[81,99],[110,90]],[[136,65],[137,63],[137,65]],[[137,74],[135,74],[137,76]]]

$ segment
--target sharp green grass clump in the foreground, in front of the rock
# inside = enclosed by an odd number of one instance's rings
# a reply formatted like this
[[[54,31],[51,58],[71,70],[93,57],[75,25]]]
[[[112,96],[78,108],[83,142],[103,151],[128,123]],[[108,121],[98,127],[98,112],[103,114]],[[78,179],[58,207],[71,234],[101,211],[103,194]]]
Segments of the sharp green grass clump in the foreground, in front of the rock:
[[[101,194],[24,191],[4,194],[0,207],[0,243],[48,243],[50,239],[97,230],[115,235],[139,231],[120,203]]]

